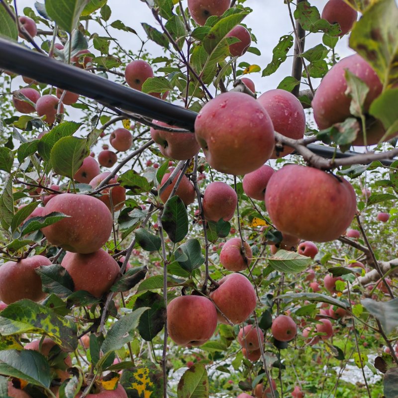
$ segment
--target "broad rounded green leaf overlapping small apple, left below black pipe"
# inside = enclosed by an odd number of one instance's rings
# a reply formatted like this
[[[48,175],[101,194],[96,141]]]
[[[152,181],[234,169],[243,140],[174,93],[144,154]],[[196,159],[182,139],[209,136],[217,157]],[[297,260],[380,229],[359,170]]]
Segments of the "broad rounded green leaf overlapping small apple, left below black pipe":
[[[51,150],[53,170],[61,176],[73,178],[89,154],[90,150],[85,138],[61,138]]]

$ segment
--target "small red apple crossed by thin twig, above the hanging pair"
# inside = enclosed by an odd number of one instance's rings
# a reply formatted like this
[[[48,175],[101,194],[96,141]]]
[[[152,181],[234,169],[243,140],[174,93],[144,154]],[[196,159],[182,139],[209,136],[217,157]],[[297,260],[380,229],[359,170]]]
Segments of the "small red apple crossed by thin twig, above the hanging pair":
[[[240,238],[231,238],[225,242],[220,252],[220,263],[229,271],[244,271],[252,262],[252,249],[247,242],[244,242],[245,256],[243,257],[242,241]]]

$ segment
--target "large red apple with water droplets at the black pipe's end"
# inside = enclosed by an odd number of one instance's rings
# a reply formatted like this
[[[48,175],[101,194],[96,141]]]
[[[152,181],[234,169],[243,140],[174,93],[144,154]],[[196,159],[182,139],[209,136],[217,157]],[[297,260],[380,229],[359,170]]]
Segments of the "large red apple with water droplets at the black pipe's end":
[[[275,146],[267,111],[253,97],[237,92],[220,94],[201,108],[195,135],[208,164],[226,174],[258,169]]]

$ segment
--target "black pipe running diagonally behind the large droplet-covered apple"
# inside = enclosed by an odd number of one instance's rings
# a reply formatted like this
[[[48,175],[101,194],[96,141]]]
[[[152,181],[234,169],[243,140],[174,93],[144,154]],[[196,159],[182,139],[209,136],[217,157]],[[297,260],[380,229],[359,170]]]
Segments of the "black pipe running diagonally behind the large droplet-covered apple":
[[[89,97],[103,105],[115,106],[194,131],[197,113],[192,110],[111,82],[94,73],[48,58],[2,38],[0,38],[0,69]],[[342,153],[339,150],[336,151],[335,148],[317,144],[309,144],[308,148],[324,158],[332,158],[333,156],[345,158],[358,155],[357,152],[347,151]],[[386,159],[382,160],[381,163],[390,166],[393,161]]]

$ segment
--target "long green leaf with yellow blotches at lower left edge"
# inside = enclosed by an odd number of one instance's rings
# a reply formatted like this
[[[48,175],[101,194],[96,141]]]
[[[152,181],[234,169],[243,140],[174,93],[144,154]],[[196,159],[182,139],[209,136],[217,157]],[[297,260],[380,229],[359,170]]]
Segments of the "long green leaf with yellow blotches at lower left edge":
[[[73,320],[27,299],[9,304],[0,312],[0,334],[21,333],[46,334],[68,352],[74,351],[78,345],[77,327]]]

